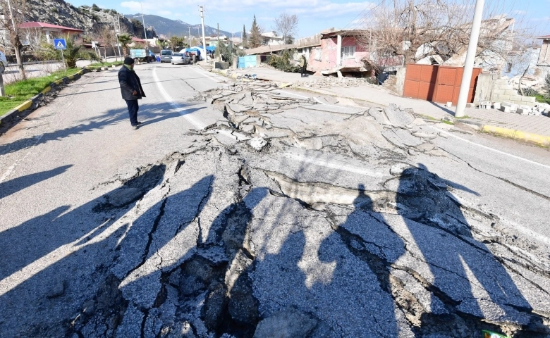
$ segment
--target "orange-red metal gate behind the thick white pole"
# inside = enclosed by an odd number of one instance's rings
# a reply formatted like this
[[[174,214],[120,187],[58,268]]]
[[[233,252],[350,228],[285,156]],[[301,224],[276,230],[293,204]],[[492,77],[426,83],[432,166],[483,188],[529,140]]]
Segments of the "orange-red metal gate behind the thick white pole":
[[[441,104],[453,102],[456,105],[463,71],[464,68],[462,67],[407,65],[403,96],[439,102]],[[475,84],[477,76],[481,72],[481,68],[474,68],[470,82],[470,91],[468,92],[468,102],[474,101]]]

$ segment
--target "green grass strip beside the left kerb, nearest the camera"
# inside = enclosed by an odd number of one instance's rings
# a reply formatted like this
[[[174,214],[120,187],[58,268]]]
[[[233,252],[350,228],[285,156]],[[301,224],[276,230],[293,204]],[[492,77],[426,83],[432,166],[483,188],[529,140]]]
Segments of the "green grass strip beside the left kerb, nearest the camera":
[[[31,77],[27,80],[6,84],[4,86],[6,96],[0,97],[0,116],[23,104],[23,102],[37,95],[39,92],[42,92],[51,82],[60,80],[68,75],[73,75],[79,70],[80,68],[69,68],[67,73],[59,70],[47,76]]]

